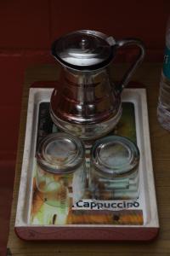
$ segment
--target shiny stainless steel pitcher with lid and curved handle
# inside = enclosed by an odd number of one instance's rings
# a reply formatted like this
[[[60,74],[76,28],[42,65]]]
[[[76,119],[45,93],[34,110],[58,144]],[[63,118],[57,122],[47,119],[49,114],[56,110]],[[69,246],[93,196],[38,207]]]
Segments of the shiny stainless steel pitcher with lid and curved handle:
[[[110,76],[117,49],[139,47],[139,55],[115,85]],[[71,32],[57,39],[52,54],[62,65],[57,88],[50,102],[50,114],[63,131],[91,140],[111,131],[122,115],[121,93],[144,59],[144,44],[135,38],[115,40],[90,30]]]

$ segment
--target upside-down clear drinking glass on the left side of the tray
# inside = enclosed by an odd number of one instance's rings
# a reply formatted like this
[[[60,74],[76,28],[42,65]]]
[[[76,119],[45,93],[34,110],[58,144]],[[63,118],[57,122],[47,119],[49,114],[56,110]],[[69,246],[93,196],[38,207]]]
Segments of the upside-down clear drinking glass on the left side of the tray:
[[[53,207],[69,207],[82,199],[86,183],[82,141],[58,132],[45,137],[37,148],[37,189]]]

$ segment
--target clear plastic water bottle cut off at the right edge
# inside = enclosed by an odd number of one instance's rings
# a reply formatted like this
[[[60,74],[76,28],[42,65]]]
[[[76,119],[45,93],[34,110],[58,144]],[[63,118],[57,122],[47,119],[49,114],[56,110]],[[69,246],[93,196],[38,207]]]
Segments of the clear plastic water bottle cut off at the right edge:
[[[161,126],[170,131],[170,18],[167,20],[166,49],[161,70],[157,118]]]

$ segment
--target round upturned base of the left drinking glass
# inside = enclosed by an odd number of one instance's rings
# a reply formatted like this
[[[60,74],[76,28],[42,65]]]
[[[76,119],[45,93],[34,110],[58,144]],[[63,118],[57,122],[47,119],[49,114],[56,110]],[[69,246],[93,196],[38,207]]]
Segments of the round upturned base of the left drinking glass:
[[[57,132],[44,137],[37,148],[37,163],[47,172],[74,172],[84,160],[82,141],[66,133]]]

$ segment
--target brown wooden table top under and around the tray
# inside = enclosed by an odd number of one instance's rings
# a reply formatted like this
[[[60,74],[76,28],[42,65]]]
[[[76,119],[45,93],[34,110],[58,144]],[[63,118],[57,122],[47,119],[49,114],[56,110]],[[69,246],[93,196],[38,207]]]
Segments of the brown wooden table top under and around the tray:
[[[114,75],[121,79],[126,65],[116,65]],[[150,242],[31,242],[21,241],[14,233],[14,220],[20,185],[20,170],[26,131],[26,111],[29,88],[35,81],[53,81],[58,79],[59,67],[44,65],[26,70],[23,101],[20,117],[20,139],[14,181],[14,201],[10,218],[8,249],[12,255],[52,256],[52,255],[170,255],[170,133],[161,128],[156,119],[156,105],[161,74],[160,63],[144,63],[133,75],[133,81],[143,84],[147,91],[150,123],[150,142],[156,182],[156,196],[160,220],[160,232]],[[139,84],[138,83],[138,84]],[[47,83],[48,84],[48,83]],[[133,83],[135,85],[135,83]],[[8,252],[9,252],[8,250]]]

